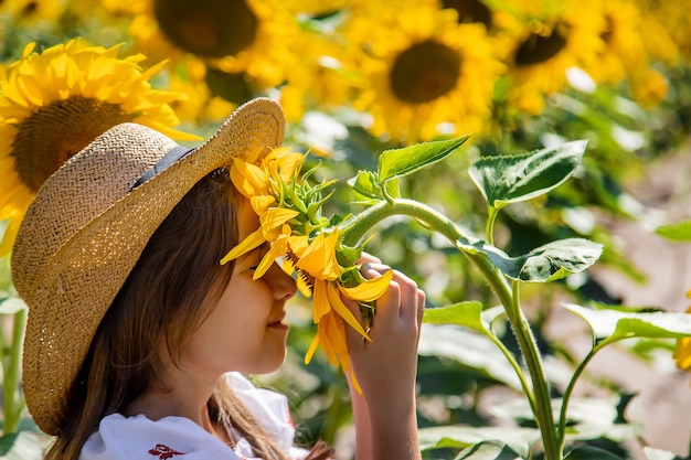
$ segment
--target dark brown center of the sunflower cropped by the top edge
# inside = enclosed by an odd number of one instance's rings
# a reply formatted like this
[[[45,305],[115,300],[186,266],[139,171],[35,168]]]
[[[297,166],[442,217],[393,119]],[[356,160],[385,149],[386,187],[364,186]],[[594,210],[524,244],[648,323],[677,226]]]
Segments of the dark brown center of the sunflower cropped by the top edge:
[[[257,33],[257,17],[244,0],[155,0],[153,12],[168,40],[199,56],[236,55]]]

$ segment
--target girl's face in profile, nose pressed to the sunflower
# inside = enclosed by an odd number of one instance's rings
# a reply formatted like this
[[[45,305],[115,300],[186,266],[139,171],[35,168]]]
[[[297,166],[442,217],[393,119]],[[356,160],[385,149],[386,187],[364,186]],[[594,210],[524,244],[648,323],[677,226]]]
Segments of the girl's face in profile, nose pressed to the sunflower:
[[[258,226],[257,215],[243,201],[238,207],[238,240]],[[273,372],[283,364],[288,335],[288,327],[283,323],[284,307],[295,295],[296,285],[277,264],[261,279],[252,279],[265,253],[261,246],[235,261],[221,300],[183,350],[185,366],[214,378],[227,371]]]

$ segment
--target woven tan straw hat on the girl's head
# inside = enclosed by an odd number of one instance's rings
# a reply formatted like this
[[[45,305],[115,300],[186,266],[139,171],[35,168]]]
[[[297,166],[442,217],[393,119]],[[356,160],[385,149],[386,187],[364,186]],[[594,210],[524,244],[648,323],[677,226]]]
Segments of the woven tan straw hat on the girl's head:
[[[41,188],[12,249],[12,280],[29,306],[23,384],[39,427],[57,435],[98,324],[149,238],[211,171],[283,142],[279,105],[254,99],[189,151],[150,128],[118,125]]]

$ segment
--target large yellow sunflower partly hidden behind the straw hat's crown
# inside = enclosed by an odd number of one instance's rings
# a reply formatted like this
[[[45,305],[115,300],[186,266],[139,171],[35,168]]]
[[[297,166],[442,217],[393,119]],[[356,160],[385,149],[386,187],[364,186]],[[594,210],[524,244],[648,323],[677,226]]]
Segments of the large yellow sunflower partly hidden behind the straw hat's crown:
[[[33,50],[24,47],[0,79],[0,220],[10,218],[1,254],[43,182],[108,128],[135,121],[176,139],[199,139],[172,129],[178,118],[168,103],[178,95],[148,82],[162,63],[142,72],[145,56],[117,58],[118,46],[79,40]]]

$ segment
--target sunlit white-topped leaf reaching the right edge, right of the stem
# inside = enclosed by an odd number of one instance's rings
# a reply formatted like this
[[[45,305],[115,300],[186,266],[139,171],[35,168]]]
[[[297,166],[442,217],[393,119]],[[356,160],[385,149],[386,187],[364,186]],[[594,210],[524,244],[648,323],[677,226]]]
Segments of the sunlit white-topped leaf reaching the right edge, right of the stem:
[[[636,312],[620,308],[585,308],[564,303],[564,308],[587,322],[595,340],[603,344],[624,339],[679,339],[691,336],[691,314],[672,311]]]

